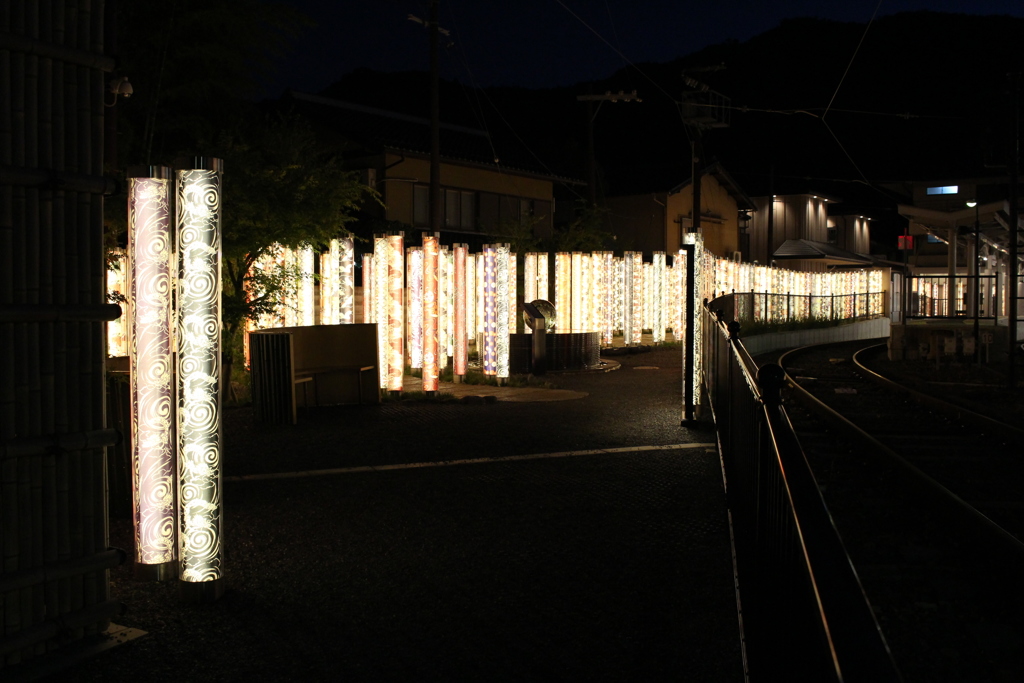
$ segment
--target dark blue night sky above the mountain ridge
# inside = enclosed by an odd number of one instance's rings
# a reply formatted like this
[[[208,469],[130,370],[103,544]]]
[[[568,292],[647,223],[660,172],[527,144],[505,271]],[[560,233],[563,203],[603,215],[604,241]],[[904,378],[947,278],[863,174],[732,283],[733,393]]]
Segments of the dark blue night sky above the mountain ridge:
[[[282,63],[265,96],[317,92],[358,68],[425,71],[426,0],[280,0],[316,23]],[[668,61],[728,40],[745,41],[786,17],[864,24],[933,10],[1024,17],[1020,0],[441,0],[441,76],[476,86],[545,88],[609,76],[627,65]],[[851,46],[852,49],[855,46]]]

